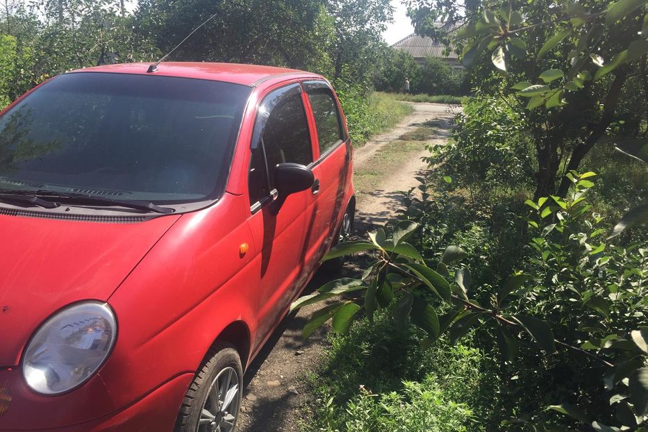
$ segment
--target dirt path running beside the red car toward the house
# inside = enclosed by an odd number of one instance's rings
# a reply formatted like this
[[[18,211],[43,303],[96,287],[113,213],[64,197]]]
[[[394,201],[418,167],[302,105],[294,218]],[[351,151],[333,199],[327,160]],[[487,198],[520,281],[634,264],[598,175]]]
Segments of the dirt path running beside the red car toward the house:
[[[426,168],[422,156],[429,154],[424,144],[445,142],[451,113],[448,106],[433,103],[414,103],[414,112],[397,124],[392,130],[367,142],[354,155],[356,180],[358,175],[373,167],[383,167],[371,189],[358,191],[356,209],[356,233],[363,235],[373,224],[383,224],[394,215],[401,203],[402,194],[417,185],[415,176]],[[431,127],[431,136],[412,146],[412,151],[399,153],[405,156],[390,160],[388,165],[376,163],[381,153],[387,153],[390,146],[399,146],[399,138],[408,133]],[[374,174],[374,173],[372,173]],[[374,187],[375,186],[375,187]],[[356,277],[359,270],[347,265],[341,274],[318,272],[305,292],[311,292],[326,281],[340,277]],[[301,340],[301,329],[308,317],[321,305],[313,305],[288,315],[279,325],[263,350],[250,365],[245,376],[244,402],[239,420],[238,432],[300,431],[302,413],[313,404],[308,394],[306,377],[315,372],[319,358],[326,349],[327,327],[319,329],[308,340]],[[307,425],[306,425],[307,426]],[[306,427],[308,429],[308,427]]]

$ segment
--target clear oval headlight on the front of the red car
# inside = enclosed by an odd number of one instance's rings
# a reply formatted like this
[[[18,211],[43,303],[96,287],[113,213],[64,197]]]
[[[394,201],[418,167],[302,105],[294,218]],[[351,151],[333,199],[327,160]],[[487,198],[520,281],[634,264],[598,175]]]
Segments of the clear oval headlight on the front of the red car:
[[[113,349],[117,322],[110,306],[85,301],[60,310],[33,335],[22,360],[32,390],[59,394],[88,381]]]

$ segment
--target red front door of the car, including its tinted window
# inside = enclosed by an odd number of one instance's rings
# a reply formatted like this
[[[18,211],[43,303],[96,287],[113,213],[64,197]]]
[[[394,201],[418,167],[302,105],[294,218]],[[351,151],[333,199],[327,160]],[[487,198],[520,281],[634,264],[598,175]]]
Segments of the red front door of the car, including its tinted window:
[[[278,200],[273,176],[280,163],[313,163],[299,83],[267,94],[260,103],[252,135],[249,224],[259,268],[257,343],[274,329],[308,279],[305,257],[308,233],[315,224],[316,194],[308,189]]]

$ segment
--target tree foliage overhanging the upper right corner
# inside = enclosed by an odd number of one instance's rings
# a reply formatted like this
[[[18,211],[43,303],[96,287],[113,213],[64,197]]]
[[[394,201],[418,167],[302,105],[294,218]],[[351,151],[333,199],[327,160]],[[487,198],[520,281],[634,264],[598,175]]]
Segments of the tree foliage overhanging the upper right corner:
[[[569,183],[565,172],[581,160],[619,119],[622,96],[645,106],[646,2],[410,0],[417,33],[440,34],[435,19],[463,22],[455,45],[475,65],[481,90],[513,94],[524,103],[538,156],[536,198]],[[633,85],[643,92],[629,94]],[[648,111],[642,116],[647,117]],[[638,128],[635,128],[635,133]]]

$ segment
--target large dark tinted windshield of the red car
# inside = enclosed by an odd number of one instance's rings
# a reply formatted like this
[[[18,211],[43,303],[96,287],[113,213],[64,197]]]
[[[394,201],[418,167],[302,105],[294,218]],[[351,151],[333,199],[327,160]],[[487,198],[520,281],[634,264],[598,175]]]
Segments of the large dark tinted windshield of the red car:
[[[0,192],[215,199],[250,93],[192,78],[59,76],[0,117]]]

